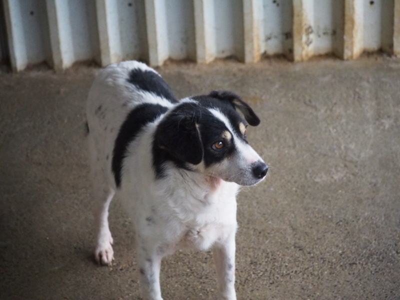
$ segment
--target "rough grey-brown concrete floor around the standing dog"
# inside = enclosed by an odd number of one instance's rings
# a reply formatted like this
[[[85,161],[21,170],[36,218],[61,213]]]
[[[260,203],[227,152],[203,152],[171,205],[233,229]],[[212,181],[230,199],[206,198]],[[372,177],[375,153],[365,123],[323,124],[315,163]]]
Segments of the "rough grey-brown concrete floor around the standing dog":
[[[0,298],[137,299],[131,221],[93,262],[84,105],[97,71],[0,74]],[[400,60],[217,61],[159,72],[179,97],[231,89],[273,166],[238,197],[238,299],[400,299]],[[209,252],[165,258],[167,299],[213,299]]]

